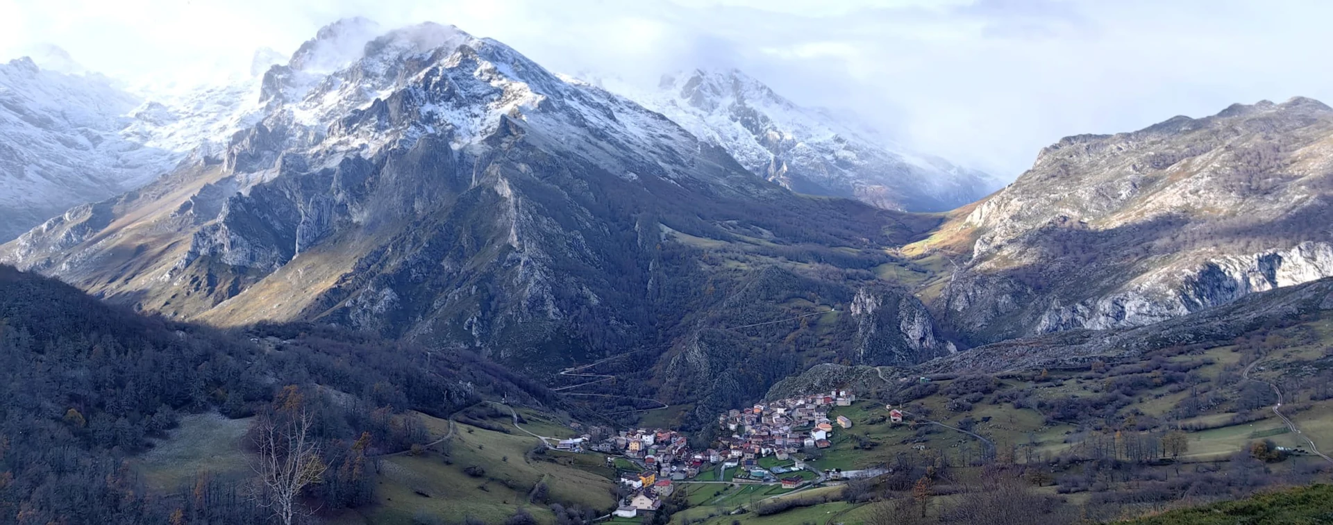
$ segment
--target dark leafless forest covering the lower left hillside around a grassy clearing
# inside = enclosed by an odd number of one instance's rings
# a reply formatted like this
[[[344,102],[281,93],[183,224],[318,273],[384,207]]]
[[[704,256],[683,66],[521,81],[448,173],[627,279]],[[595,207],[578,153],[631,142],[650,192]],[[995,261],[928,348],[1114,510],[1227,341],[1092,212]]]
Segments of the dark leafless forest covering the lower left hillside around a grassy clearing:
[[[257,416],[247,441],[283,460],[295,454],[281,430],[304,418],[323,482],[297,505],[364,505],[375,485],[365,458],[420,442],[413,413],[448,417],[483,394],[555,398],[467,352],[315,325],[180,324],[0,266],[0,524],[287,521],[275,490],[251,480],[201,476],[163,496],[128,466],[183,414],[209,410]],[[265,429],[280,437],[267,450]]]

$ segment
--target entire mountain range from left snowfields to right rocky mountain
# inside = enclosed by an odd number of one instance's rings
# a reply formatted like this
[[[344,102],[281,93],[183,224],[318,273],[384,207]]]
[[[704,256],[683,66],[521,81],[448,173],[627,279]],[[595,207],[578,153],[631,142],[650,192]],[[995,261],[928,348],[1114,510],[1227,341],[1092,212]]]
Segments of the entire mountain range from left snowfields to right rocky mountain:
[[[45,149],[0,156],[27,199],[4,213],[53,219],[0,262],[176,320],[332,324],[552,381],[644,353],[608,388],[694,424],[816,364],[965,360],[1333,276],[1333,111],[1309,99],[1066,137],[985,196],[988,176],[738,71],[635,91],[439,24],[341,20],[253,79],[151,101],[5,68],[25,117],[0,132]],[[57,115],[52,85],[107,103]],[[108,168],[52,164],[69,155]],[[37,199],[57,176],[92,189]]]

